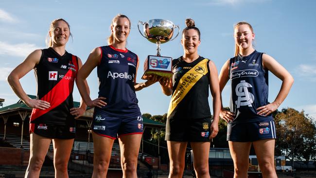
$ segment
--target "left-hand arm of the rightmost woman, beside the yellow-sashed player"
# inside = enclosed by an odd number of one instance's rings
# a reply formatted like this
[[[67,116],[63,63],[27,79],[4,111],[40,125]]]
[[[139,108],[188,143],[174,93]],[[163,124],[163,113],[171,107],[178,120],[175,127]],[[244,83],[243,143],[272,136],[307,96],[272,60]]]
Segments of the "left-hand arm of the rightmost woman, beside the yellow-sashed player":
[[[221,100],[221,111],[220,111],[219,116],[222,119],[224,119],[226,122],[232,121],[235,117],[234,113],[229,112],[229,111],[224,109],[223,101],[222,101],[222,91],[229,80],[228,73],[229,73],[229,59],[223,65],[223,67],[219,73],[219,77],[218,77],[219,78],[220,100]]]

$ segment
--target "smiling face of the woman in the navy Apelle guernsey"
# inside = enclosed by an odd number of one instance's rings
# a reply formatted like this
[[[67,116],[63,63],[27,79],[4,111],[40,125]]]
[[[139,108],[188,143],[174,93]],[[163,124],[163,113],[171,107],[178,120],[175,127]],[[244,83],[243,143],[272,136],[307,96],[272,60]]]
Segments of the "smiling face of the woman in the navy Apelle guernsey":
[[[125,42],[130,31],[130,23],[127,18],[117,18],[111,26],[114,43]]]

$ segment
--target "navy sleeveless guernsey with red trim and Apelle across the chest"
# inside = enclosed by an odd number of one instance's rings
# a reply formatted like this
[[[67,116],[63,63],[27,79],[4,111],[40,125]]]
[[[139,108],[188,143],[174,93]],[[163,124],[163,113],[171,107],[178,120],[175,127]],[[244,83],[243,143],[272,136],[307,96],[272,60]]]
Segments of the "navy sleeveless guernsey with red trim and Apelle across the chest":
[[[101,109],[113,117],[140,115],[134,80],[138,56],[113,46],[102,46],[101,61],[97,67],[99,97],[105,97],[107,105]],[[96,108],[99,109],[99,108]]]

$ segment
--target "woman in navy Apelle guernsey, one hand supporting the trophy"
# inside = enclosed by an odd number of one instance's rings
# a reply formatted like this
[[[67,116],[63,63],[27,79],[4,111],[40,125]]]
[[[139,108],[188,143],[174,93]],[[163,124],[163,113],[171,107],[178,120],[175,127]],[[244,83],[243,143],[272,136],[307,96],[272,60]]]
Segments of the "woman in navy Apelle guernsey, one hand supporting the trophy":
[[[139,59],[125,48],[130,25],[130,20],[124,15],[113,18],[109,45],[97,47],[90,53],[76,80],[84,101],[89,107],[94,107],[93,178],[106,177],[116,137],[120,143],[123,178],[137,178],[143,123],[135,91],[152,85],[158,78],[152,76],[144,83],[136,83]],[[99,97],[91,100],[83,81],[95,67],[99,78]]]

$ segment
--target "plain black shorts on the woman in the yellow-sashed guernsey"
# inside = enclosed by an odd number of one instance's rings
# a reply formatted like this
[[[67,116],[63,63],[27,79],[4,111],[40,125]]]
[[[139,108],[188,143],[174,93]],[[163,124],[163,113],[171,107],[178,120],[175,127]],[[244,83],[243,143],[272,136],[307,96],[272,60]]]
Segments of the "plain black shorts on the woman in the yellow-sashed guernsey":
[[[210,142],[210,118],[167,119],[166,141]]]

